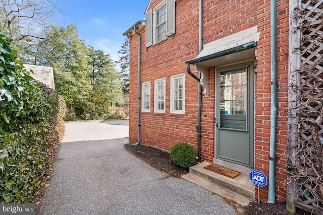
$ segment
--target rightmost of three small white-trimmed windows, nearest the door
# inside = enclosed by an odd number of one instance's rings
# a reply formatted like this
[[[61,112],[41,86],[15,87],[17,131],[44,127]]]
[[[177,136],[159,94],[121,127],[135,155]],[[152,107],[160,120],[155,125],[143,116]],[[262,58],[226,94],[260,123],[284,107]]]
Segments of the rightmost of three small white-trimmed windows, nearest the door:
[[[171,77],[171,113],[185,113],[185,74]]]

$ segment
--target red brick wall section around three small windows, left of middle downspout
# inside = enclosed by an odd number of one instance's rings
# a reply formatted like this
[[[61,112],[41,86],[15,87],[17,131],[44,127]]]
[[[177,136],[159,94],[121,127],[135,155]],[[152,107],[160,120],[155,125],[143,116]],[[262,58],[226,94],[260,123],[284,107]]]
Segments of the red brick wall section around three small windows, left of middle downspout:
[[[152,1],[153,8],[159,1]],[[150,8],[148,10],[150,10]],[[188,13],[189,12],[189,13]],[[145,48],[144,29],[142,39],[141,82],[150,81],[150,112],[140,112],[140,142],[144,145],[169,151],[177,142],[184,141],[197,149],[196,119],[198,82],[186,72],[185,61],[198,54],[198,2],[180,1],[176,6],[176,34]],[[133,35],[130,46],[130,133],[129,140],[137,141],[137,82],[138,37]],[[136,62],[135,62],[136,61]],[[170,77],[185,74],[185,114],[170,113]],[[166,79],[166,111],[154,113],[154,80]],[[135,110],[134,110],[135,109]],[[207,147],[212,148],[212,147]],[[208,161],[213,158],[207,152]]]

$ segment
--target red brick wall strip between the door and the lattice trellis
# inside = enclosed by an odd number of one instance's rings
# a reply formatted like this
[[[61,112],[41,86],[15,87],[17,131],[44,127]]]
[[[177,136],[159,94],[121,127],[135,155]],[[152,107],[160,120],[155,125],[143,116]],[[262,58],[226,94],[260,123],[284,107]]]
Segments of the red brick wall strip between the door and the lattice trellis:
[[[288,102],[288,1],[277,2],[277,80],[278,112],[276,156],[276,200],[286,201],[287,102]],[[255,169],[269,174],[271,124],[271,29],[270,0],[258,1],[257,77],[255,82]],[[268,186],[260,189],[267,200]]]

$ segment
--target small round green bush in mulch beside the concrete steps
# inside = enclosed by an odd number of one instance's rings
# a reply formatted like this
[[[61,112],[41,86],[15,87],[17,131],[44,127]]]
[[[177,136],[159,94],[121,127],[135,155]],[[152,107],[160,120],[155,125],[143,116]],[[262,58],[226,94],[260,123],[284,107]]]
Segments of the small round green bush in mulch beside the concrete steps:
[[[196,164],[196,150],[186,142],[179,142],[170,151],[171,160],[181,168]]]

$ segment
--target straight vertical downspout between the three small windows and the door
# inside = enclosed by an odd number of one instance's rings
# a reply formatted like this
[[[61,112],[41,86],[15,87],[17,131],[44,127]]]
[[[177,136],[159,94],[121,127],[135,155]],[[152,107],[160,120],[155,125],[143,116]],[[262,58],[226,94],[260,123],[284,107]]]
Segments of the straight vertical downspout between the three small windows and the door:
[[[198,32],[198,53],[202,50],[202,0],[199,3],[199,32]],[[201,79],[201,72],[198,71],[199,79]],[[202,108],[202,87],[201,82],[198,82],[198,109],[197,109],[197,162],[201,163],[201,108]]]

